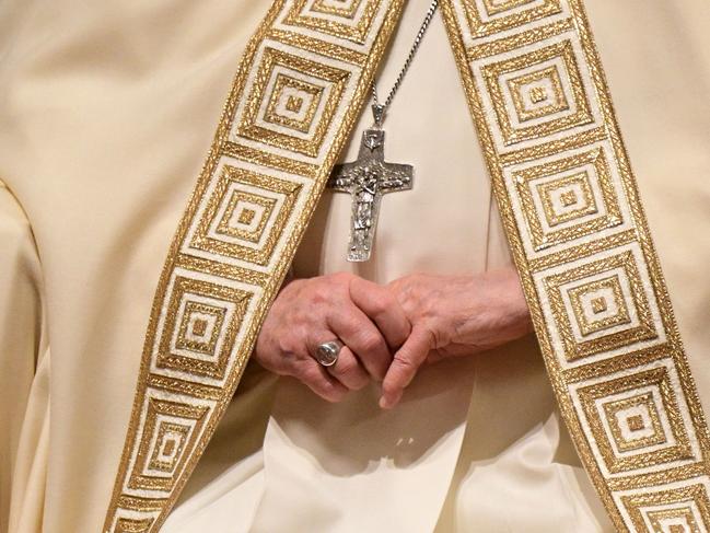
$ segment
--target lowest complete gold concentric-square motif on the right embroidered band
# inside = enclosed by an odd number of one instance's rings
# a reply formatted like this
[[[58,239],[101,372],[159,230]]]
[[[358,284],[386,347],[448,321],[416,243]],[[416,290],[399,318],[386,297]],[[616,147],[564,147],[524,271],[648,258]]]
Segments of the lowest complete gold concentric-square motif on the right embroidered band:
[[[665,367],[580,386],[577,396],[610,474],[695,459]]]

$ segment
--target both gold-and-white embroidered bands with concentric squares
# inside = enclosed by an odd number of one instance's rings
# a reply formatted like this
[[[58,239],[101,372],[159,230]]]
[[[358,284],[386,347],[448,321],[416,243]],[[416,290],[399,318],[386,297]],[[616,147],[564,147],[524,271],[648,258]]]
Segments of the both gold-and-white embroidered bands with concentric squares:
[[[249,42],[155,293],[105,531],[158,531],[177,499],[403,4],[277,0]],[[442,10],[552,386],[609,515],[619,531],[710,529],[708,431],[581,0]]]

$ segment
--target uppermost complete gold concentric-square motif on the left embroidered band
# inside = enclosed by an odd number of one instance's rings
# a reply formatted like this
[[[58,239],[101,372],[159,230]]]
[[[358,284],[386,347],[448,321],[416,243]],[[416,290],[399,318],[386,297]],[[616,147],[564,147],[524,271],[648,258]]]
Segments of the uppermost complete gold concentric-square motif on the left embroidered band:
[[[235,135],[315,158],[350,76],[349,70],[267,47]],[[296,104],[298,112],[289,109]]]

